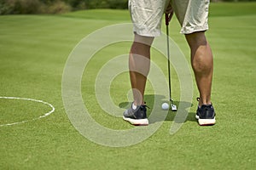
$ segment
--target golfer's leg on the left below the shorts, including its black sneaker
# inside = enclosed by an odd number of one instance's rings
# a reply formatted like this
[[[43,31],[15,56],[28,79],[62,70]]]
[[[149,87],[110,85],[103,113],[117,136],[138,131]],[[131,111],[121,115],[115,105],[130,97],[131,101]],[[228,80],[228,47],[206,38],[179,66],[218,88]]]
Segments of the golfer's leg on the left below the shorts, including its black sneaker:
[[[135,34],[129,55],[129,71],[133,103],[124,112],[124,120],[133,125],[148,125],[147,108],[144,105],[144,91],[150,69],[150,47],[154,37]]]

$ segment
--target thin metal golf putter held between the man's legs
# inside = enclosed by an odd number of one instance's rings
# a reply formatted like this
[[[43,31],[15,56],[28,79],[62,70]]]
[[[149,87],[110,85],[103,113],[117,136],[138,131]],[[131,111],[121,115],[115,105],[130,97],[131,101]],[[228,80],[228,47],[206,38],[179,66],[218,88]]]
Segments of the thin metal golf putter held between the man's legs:
[[[170,49],[169,49],[169,21],[172,19],[172,14],[168,17],[166,14],[166,39],[167,39],[167,57],[168,57],[168,78],[169,78],[169,97],[171,102],[172,111],[177,111],[177,106],[173,104],[172,91],[171,91],[171,69],[170,69]]]

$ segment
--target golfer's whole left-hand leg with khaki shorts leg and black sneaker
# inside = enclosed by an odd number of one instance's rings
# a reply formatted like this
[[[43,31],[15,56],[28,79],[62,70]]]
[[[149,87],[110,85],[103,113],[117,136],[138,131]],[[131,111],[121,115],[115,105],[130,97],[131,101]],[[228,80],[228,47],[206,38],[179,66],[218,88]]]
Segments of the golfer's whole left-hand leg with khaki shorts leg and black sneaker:
[[[160,36],[161,19],[166,0],[129,0],[135,33],[129,56],[129,71],[133,104],[124,112],[125,121],[134,125],[148,125],[144,91],[150,68],[150,47],[154,37]]]

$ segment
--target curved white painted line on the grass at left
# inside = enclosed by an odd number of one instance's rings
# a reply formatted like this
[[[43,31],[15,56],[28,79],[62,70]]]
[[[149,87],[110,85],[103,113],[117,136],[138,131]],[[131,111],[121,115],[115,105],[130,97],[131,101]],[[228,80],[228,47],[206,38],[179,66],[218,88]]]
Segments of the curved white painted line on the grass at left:
[[[43,118],[45,116],[49,116],[50,114],[52,114],[55,111],[55,107],[43,100],[38,100],[38,99],[28,99],[28,98],[19,98],[19,97],[6,97],[6,96],[0,96],[0,99],[23,99],[23,100],[29,100],[29,101],[34,101],[34,102],[38,102],[38,103],[42,103],[44,105],[49,105],[49,107],[51,107],[51,111],[45,113],[42,116],[38,116],[36,118],[30,119],[30,120],[26,120],[26,121],[21,121],[21,122],[12,122],[12,123],[7,123],[7,124],[0,124],[0,127],[4,127],[4,126],[11,126],[11,125],[16,125],[16,124],[20,124],[20,123],[25,123],[25,122],[30,122],[30,121],[35,121],[38,120],[40,118]]]

